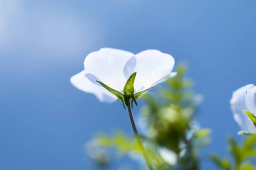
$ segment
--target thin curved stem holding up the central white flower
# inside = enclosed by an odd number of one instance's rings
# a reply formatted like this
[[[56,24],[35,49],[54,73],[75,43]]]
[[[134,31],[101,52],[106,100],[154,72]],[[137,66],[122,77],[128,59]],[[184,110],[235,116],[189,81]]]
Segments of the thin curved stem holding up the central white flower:
[[[139,133],[137,131],[137,128],[136,128],[136,125],[135,125],[135,122],[134,122],[134,119],[133,119],[133,116],[132,116],[130,102],[128,102],[128,103],[129,103],[128,107],[127,107],[128,108],[128,113],[129,113],[129,117],[130,117],[130,121],[131,121],[131,126],[132,126],[132,129],[134,131],[134,136],[135,136],[135,138],[137,140],[137,144],[139,145],[140,149],[142,150],[142,153],[143,153],[143,156],[144,156],[144,159],[145,159],[145,162],[146,162],[148,168],[150,170],[154,170],[153,167],[151,166],[149,160],[148,160],[148,156],[146,155],[145,149],[144,149],[143,144],[142,144],[142,142],[140,140],[140,135],[139,135]]]

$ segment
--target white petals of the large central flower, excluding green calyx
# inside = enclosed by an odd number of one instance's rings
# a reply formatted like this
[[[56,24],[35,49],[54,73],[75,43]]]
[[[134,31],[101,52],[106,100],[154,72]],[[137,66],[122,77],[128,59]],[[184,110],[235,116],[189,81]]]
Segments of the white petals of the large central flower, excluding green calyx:
[[[166,81],[172,73],[175,60],[158,50],[146,50],[138,54],[128,51],[101,48],[87,55],[84,71],[71,77],[70,82],[81,91],[94,94],[101,102],[115,102],[117,97],[97,81],[123,93],[126,81],[137,72],[134,94]]]

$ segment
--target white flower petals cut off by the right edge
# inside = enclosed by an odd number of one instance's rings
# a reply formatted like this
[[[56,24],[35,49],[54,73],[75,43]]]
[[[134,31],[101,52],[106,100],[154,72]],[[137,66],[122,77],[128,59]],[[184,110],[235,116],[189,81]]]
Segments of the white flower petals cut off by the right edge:
[[[230,100],[231,111],[235,121],[241,130],[248,133],[256,133],[256,127],[250,118],[244,113],[249,111],[256,115],[256,87],[253,84],[245,85],[233,92]]]

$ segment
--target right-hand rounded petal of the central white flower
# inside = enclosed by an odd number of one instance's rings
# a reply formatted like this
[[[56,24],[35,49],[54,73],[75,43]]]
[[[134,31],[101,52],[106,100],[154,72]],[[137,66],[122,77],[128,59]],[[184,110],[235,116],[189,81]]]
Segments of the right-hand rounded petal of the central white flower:
[[[143,91],[156,85],[161,79],[168,77],[174,67],[175,60],[158,50],[146,50],[135,55],[137,72],[134,91]]]

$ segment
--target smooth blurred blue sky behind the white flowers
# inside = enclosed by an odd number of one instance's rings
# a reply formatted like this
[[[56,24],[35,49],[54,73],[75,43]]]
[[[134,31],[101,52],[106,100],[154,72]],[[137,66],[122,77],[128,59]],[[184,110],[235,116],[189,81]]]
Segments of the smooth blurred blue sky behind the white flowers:
[[[202,169],[212,167],[206,153],[226,156],[227,134],[241,141],[229,100],[256,83],[255,8],[255,0],[0,0],[0,169],[97,169],[83,146],[94,132],[132,133],[120,103],[70,84],[102,47],[187,61],[205,98],[198,122],[212,128]],[[122,164],[138,168],[122,158],[111,170]]]

